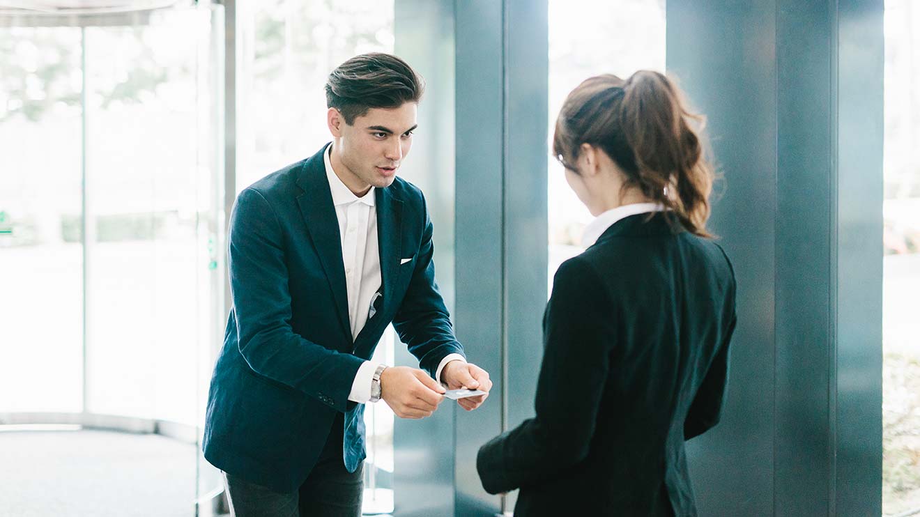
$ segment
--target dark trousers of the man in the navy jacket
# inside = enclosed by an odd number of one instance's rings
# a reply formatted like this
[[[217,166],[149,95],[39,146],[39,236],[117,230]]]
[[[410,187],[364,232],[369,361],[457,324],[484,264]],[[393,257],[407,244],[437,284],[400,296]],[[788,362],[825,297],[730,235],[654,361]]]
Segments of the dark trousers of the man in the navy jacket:
[[[343,416],[339,413],[323,452],[299,489],[281,493],[224,472],[234,517],[361,517],[364,465],[354,472],[342,459]]]

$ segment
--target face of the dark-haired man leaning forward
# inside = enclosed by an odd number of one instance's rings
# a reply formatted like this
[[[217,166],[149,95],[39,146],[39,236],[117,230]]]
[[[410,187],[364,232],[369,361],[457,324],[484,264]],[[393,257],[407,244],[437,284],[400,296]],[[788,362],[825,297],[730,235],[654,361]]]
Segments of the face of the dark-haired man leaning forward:
[[[333,169],[352,192],[361,194],[372,186],[382,189],[393,183],[412,146],[417,111],[414,102],[395,109],[372,108],[348,124],[338,109],[329,109],[329,131],[336,139]]]

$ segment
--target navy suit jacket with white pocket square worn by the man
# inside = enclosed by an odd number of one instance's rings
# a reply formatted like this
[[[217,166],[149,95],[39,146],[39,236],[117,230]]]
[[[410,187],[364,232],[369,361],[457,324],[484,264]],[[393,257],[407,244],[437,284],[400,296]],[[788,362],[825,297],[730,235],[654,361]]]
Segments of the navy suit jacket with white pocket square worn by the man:
[[[345,414],[345,466],[361,464],[364,406],[348,396],[391,321],[432,376],[445,356],[463,354],[434,281],[425,200],[401,178],[375,189],[383,298],[351,339],[325,149],[236,199],[228,234],[233,307],[204,427],[212,465],[284,492],[313,469],[336,411]]]

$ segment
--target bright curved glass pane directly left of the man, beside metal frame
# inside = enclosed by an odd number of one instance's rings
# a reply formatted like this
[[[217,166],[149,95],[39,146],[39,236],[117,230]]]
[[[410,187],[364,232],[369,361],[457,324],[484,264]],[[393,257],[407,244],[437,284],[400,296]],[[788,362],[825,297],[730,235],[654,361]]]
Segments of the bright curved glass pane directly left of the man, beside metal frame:
[[[206,14],[206,13],[205,13]],[[86,405],[196,424],[200,328],[215,332],[199,134],[199,13],[86,28]],[[204,40],[207,44],[207,40]],[[207,67],[208,63],[202,63]],[[201,120],[204,118],[205,120]],[[204,136],[207,138],[207,136]],[[201,228],[201,231],[200,231]]]

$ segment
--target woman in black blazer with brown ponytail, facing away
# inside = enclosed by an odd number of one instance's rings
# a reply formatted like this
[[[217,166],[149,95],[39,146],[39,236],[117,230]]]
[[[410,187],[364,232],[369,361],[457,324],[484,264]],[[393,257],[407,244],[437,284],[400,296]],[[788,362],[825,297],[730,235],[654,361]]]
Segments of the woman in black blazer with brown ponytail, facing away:
[[[515,517],[696,515],[684,441],[719,421],[735,326],[729,259],[707,233],[712,167],[664,75],[592,77],[554,152],[597,219],[556,272],[534,419],[484,445]]]

